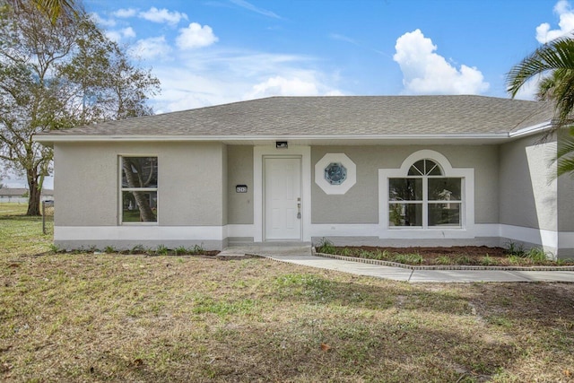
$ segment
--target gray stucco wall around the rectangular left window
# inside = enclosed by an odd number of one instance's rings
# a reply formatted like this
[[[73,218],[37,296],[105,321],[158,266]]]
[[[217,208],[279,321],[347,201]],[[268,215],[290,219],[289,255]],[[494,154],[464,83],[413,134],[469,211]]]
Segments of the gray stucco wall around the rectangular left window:
[[[225,145],[217,143],[56,144],[57,226],[115,226],[119,156],[158,157],[158,224],[225,223]]]

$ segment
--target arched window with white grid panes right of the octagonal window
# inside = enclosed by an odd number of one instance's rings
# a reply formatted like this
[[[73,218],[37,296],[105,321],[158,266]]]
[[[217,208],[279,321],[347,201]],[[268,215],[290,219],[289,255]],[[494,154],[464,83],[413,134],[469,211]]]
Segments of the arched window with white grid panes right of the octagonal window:
[[[461,227],[463,178],[446,177],[436,161],[415,161],[404,177],[388,178],[389,227]]]

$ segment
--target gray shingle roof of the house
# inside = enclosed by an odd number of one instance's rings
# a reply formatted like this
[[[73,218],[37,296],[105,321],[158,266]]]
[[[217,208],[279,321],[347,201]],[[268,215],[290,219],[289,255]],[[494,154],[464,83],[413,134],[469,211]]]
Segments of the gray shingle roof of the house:
[[[471,95],[272,97],[49,135],[499,134],[551,118],[552,109],[541,102]]]

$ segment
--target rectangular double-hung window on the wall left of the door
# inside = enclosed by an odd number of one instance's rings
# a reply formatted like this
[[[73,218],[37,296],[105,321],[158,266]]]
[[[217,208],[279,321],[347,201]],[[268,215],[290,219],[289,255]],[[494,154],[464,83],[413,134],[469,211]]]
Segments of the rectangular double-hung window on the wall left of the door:
[[[158,158],[120,157],[120,222],[158,221]]]

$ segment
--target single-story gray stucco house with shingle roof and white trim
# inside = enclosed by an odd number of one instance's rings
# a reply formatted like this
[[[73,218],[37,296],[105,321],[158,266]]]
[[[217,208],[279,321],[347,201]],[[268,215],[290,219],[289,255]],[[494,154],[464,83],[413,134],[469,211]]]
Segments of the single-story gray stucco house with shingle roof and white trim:
[[[55,243],[221,249],[317,242],[574,254],[543,103],[273,97],[37,135],[55,152]]]

